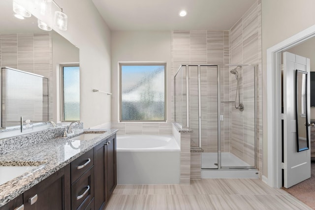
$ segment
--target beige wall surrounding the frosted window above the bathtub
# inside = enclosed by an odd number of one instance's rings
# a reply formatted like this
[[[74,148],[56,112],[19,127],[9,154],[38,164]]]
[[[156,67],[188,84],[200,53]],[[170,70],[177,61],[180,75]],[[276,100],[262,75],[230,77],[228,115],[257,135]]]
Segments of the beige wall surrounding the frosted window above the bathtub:
[[[112,31],[112,122],[119,134],[171,134],[171,31]],[[167,121],[118,123],[118,62],[167,63]]]

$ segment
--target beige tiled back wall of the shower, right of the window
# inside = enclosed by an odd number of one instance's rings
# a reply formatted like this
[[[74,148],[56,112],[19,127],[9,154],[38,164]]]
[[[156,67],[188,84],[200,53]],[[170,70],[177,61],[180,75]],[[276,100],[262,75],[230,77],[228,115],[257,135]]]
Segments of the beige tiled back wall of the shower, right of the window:
[[[229,63],[229,31],[176,30],[172,33],[172,73],[175,75],[181,64]],[[217,68],[203,67],[201,76],[201,128],[203,149],[218,150],[217,146]],[[197,67],[189,67],[189,128],[191,147],[199,147]],[[215,82],[215,83],[213,83]],[[177,86],[177,85],[176,85]],[[176,106],[178,108],[178,105]],[[183,109],[182,107],[180,109]],[[174,111],[173,111],[174,113]],[[173,119],[172,119],[173,120]],[[209,129],[209,124],[211,129]]]

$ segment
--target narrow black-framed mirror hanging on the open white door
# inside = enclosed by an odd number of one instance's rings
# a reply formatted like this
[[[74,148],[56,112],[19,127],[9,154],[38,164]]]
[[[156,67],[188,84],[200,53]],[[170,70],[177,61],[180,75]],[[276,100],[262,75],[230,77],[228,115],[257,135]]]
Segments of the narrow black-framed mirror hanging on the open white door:
[[[309,126],[307,113],[307,79],[308,73],[296,70],[295,77],[295,111],[297,152],[309,150]]]

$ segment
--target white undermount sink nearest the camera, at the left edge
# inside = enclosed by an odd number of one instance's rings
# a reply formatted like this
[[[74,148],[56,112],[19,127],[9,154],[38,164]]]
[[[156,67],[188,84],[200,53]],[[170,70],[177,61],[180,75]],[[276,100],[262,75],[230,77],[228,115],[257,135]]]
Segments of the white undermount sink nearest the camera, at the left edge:
[[[0,166],[0,185],[9,180],[13,180],[33,169],[40,169],[44,165],[38,165],[39,162],[29,162],[28,166]],[[44,164],[41,162],[41,164]],[[27,176],[27,174],[26,174]]]

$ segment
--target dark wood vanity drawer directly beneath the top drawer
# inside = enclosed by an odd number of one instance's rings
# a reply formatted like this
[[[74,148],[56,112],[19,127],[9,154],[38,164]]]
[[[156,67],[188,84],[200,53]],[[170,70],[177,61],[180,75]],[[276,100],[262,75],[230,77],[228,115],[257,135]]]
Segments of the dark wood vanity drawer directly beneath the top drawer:
[[[84,210],[94,198],[94,167],[71,184],[71,209]]]

